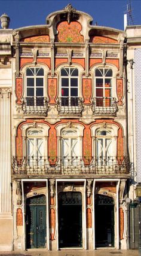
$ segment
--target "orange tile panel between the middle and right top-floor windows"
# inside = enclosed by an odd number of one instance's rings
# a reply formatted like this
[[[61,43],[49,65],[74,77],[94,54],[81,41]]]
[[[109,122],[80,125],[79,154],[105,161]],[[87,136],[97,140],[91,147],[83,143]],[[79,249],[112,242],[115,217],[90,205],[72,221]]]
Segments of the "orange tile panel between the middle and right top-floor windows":
[[[91,98],[91,79],[82,79],[82,93],[84,97],[84,103],[89,104]]]

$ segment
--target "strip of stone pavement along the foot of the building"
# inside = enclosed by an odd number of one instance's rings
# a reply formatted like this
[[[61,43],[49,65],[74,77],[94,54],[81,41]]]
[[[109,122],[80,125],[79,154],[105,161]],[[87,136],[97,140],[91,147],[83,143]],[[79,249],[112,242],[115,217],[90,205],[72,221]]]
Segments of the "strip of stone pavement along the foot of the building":
[[[0,256],[138,256],[137,250],[97,249],[97,250],[67,250],[46,251],[28,250],[20,252],[0,252]]]

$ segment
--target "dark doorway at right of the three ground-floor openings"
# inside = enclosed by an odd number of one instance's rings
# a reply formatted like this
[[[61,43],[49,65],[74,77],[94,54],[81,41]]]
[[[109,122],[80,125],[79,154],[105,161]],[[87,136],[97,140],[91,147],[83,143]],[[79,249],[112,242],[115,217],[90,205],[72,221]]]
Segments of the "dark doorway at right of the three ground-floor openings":
[[[95,200],[96,247],[114,247],[114,200],[96,195]]]

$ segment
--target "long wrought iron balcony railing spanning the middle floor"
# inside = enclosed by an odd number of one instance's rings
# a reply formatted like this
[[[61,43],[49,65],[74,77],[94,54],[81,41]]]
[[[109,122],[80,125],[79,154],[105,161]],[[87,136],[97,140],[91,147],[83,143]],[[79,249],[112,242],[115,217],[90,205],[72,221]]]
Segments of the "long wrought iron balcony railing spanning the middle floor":
[[[120,175],[128,157],[13,157],[13,175]]]

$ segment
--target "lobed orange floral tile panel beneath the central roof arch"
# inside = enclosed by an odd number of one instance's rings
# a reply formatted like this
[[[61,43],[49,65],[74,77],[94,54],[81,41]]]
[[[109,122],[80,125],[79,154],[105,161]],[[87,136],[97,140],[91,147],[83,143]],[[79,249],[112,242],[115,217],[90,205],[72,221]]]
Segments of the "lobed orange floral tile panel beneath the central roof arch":
[[[84,42],[84,38],[80,31],[82,26],[79,22],[61,22],[57,26],[58,42]]]

